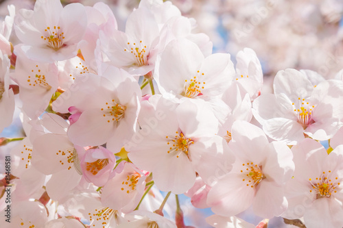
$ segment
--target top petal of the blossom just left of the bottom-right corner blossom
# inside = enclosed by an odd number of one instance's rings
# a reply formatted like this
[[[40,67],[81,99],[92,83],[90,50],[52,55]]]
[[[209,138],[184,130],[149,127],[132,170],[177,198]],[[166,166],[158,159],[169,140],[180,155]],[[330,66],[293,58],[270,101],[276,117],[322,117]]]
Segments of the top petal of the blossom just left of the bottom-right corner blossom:
[[[262,129],[246,121],[235,121],[231,136],[229,147],[235,155],[255,164],[264,160],[268,139]]]

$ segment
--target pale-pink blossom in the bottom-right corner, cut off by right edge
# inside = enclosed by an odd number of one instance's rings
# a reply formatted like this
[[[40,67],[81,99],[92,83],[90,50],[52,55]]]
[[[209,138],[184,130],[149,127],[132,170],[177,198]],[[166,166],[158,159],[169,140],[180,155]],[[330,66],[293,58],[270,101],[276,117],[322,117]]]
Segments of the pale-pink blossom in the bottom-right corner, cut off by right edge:
[[[306,227],[342,227],[343,146],[329,155],[319,142],[305,139],[292,147],[294,178],[287,182],[285,218],[304,218]]]

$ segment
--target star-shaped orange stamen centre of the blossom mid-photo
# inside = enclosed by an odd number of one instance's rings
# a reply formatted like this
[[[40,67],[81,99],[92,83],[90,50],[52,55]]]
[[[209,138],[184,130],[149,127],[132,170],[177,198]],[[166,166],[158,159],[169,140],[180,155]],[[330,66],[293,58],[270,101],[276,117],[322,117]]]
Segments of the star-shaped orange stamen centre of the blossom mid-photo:
[[[176,136],[170,137],[165,136],[165,138],[169,139],[167,144],[170,146],[169,151],[167,153],[173,153],[177,152],[176,157],[178,157],[182,152],[185,153],[188,157],[188,148],[190,144],[193,144],[194,142],[191,140],[191,138],[186,138],[182,133],[178,133],[178,131],[175,132]]]

